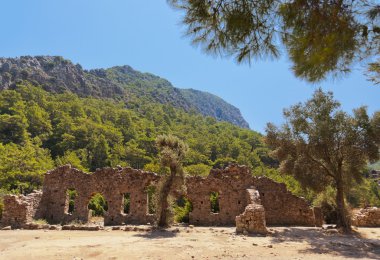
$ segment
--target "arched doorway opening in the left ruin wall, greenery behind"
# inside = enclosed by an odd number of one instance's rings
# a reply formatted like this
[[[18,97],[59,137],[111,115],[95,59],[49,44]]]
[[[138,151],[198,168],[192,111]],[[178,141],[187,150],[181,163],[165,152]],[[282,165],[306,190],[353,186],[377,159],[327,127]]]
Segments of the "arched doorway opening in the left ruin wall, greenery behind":
[[[88,202],[89,223],[104,225],[104,215],[108,211],[108,203],[101,193],[94,193]]]

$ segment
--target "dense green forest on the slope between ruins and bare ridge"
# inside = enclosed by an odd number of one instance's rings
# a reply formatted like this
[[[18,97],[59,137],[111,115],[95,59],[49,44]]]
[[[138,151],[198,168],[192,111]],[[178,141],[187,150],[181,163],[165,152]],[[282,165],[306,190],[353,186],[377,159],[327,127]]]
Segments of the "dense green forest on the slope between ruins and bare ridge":
[[[279,174],[260,133],[171,105],[50,93],[28,82],[0,91],[0,193],[29,193],[41,187],[47,170],[68,163],[84,171],[120,165],[163,173],[155,146],[160,134],[189,146],[189,175],[237,162],[286,183],[310,203],[333,206],[330,189],[317,196]],[[379,187],[364,180],[347,199],[354,207],[380,206]]]

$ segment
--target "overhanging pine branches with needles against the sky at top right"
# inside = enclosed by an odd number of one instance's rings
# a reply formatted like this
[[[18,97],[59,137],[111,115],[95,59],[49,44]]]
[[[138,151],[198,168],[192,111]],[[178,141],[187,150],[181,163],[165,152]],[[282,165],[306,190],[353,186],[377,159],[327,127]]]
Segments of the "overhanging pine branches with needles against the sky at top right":
[[[367,59],[379,81],[380,5],[375,0],[167,0],[184,13],[192,43],[238,63],[278,58],[281,44],[299,78],[346,73]],[[377,61],[376,61],[377,60]]]

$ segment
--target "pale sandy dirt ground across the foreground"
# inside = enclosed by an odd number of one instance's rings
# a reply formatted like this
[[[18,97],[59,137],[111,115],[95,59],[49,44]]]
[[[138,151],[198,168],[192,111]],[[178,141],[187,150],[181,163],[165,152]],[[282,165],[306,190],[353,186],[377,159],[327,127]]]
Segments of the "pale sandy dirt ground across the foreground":
[[[348,236],[304,227],[270,231],[268,236],[236,235],[232,227],[0,231],[0,259],[380,259],[380,228],[359,228]]]

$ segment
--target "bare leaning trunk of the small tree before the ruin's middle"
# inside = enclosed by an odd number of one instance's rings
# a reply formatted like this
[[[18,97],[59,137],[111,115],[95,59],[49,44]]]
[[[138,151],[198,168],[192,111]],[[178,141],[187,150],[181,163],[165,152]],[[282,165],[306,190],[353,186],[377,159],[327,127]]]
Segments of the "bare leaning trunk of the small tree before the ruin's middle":
[[[174,177],[176,175],[176,169],[170,169],[170,175],[167,176],[162,184],[162,189],[159,192],[159,215],[158,215],[158,226],[167,227],[168,226],[168,213],[169,213],[169,202],[168,197],[172,189]]]

